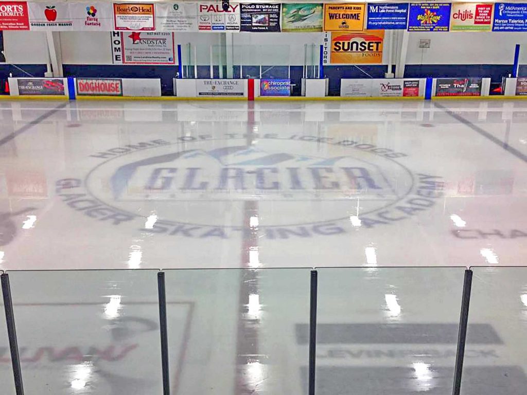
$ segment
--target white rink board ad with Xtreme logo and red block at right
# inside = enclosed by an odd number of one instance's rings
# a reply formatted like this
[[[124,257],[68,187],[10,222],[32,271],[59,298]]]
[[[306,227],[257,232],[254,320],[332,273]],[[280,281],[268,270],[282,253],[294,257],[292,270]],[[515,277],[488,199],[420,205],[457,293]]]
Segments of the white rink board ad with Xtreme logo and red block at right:
[[[341,80],[340,96],[343,97],[419,97],[420,80],[357,79]]]

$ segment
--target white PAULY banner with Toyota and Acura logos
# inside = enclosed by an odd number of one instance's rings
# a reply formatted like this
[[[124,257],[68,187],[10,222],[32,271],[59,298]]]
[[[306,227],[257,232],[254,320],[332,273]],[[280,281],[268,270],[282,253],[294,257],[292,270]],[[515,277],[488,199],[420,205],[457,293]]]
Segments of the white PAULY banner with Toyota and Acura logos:
[[[198,30],[211,31],[239,31],[240,5],[229,4],[229,9],[223,11],[221,3],[198,3]]]

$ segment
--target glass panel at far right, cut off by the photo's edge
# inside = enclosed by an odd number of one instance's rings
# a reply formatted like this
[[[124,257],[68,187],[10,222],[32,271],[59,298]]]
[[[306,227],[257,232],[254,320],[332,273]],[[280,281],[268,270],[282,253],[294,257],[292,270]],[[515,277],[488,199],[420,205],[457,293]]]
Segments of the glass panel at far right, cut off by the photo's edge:
[[[474,268],[461,393],[527,388],[527,268]]]

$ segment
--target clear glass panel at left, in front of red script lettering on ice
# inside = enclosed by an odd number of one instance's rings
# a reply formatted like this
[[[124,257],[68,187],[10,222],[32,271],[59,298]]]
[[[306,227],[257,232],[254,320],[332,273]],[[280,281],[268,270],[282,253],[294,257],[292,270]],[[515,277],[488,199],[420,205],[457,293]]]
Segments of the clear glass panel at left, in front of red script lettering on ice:
[[[157,273],[9,272],[24,393],[162,393]]]

